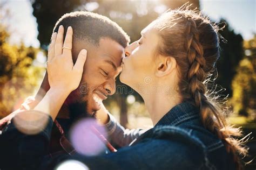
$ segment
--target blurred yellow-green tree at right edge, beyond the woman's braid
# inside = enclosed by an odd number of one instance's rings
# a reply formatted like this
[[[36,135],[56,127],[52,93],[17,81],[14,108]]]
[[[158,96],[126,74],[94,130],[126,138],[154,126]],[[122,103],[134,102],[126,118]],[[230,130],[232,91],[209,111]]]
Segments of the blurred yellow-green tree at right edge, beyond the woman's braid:
[[[232,103],[239,115],[251,115],[256,120],[256,34],[244,41],[245,55],[239,62],[232,82]]]

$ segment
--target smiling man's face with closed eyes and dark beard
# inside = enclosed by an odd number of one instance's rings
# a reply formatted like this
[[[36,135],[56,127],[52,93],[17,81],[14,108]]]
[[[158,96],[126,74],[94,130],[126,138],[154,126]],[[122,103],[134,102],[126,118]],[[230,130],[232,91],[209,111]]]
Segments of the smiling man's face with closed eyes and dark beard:
[[[66,100],[68,104],[85,103],[85,111],[93,114],[108,95],[116,91],[116,77],[121,72],[124,47],[110,38],[101,38],[98,46],[82,40],[73,41],[72,55],[87,49],[82,80]]]

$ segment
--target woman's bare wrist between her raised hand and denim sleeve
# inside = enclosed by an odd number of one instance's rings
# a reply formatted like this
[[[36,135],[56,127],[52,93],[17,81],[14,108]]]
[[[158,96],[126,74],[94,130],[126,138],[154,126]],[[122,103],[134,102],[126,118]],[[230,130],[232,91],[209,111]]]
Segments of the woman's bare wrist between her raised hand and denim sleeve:
[[[54,121],[59,109],[62,107],[69,94],[70,92],[64,90],[64,88],[50,88],[41,102],[36,105],[34,110],[49,114]]]

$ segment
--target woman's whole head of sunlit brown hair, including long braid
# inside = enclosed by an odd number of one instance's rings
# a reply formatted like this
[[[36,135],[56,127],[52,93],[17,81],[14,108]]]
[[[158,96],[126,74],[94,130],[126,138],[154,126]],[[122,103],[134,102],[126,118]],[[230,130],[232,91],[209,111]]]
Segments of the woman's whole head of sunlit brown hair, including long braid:
[[[183,101],[190,101],[200,109],[205,128],[223,141],[237,169],[242,169],[240,155],[247,155],[248,148],[244,140],[237,139],[242,136],[241,130],[226,123],[225,110],[211,97],[213,91],[208,91],[206,86],[220,55],[218,26],[190,7],[185,4],[166,11],[154,21],[160,36],[157,53],[176,59],[178,92]]]

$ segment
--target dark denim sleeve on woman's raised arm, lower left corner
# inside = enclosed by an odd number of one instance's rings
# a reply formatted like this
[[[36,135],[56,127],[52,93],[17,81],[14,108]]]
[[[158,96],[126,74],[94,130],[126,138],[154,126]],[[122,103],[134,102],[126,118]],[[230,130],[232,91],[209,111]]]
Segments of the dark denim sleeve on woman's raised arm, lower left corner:
[[[18,113],[23,114],[23,112]],[[41,164],[44,155],[48,154],[48,145],[52,129],[52,118],[41,112],[43,119],[48,119],[48,124],[39,133],[29,135],[20,132],[11,119],[0,135],[0,169],[36,169]],[[29,121],[23,121],[23,124]]]

